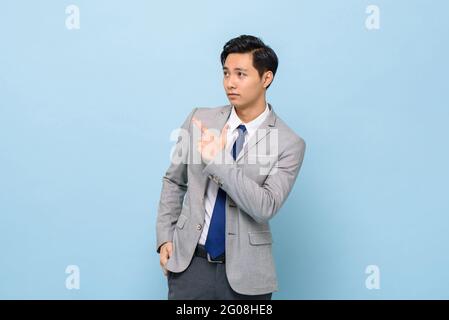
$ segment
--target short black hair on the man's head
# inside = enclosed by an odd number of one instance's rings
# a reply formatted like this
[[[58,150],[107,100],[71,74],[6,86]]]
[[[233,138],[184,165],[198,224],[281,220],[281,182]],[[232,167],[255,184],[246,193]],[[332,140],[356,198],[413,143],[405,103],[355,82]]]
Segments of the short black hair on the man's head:
[[[259,76],[262,77],[264,72],[271,71],[273,72],[274,78],[278,68],[278,57],[273,49],[254,36],[241,35],[240,37],[226,42],[223,46],[223,52],[220,55],[221,65],[224,66],[226,58],[230,53],[248,52],[251,52],[253,55],[253,66],[259,73]],[[268,85],[267,89],[270,85],[271,83]]]

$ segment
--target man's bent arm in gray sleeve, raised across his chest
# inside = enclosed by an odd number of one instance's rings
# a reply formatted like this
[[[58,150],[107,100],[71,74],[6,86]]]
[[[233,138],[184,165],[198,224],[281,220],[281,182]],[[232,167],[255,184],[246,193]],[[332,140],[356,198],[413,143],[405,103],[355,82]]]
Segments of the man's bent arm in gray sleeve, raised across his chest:
[[[224,158],[224,164],[217,164],[212,160],[203,172],[216,176],[221,184],[220,188],[226,191],[236,205],[254,220],[263,223],[276,214],[293,188],[304,158],[305,147],[303,139],[293,140],[274,164],[272,170],[276,170],[275,173],[270,172],[262,186],[246,177],[242,168],[237,167],[225,149],[214,158]]]

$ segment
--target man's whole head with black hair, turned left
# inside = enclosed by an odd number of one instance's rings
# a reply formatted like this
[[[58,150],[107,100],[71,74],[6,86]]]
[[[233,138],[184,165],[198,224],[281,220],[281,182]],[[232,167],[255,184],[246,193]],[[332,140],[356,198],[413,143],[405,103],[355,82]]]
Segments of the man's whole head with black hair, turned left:
[[[249,106],[265,97],[278,67],[273,49],[259,38],[241,35],[224,45],[220,58],[223,86],[231,104]]]

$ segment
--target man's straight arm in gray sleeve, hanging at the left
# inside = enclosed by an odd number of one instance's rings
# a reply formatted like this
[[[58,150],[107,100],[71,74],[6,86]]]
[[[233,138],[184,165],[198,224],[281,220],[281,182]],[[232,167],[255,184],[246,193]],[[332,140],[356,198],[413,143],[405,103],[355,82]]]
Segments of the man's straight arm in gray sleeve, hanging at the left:
[[[197,108],[194,108],[181,126],[181,133],[190,132],[192,116]],[[187,161],[190,143],[183,139],[189,139],[185,135],[179,135],[173,156],[180,157],[171,164],[162,179],[162,190],[159,201],[158,217],[156,223],[157,244],[156,250],[159,253],[160,247],[165,242],[173,240],[173,233],[178,217],[181,214],[184,195],[187,191]]]

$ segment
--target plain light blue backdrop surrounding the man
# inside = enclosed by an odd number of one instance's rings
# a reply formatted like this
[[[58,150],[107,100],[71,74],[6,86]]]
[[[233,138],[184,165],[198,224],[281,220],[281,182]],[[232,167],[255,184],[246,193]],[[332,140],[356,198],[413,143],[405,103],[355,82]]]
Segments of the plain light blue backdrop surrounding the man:
[[[380,30],[365,28],[370,4]],[[253,34],[280,59],[268,101],[307,142],[272,220],[273,298],[448,299],[448,13],[445,0],[2,1],[0,298],[166,298],[169,134],[228,103],[219,54]],[[71,264],[80,290],[65,288]]]

